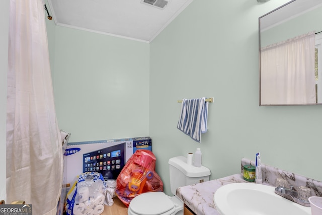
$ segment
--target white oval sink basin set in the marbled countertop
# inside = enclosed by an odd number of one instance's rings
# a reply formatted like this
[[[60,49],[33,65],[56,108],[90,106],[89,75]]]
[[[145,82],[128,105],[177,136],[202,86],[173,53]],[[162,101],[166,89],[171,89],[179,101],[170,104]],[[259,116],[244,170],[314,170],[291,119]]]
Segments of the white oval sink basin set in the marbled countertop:
[[[221,215],[305,215],[305,207],[275,194],[275,187],[255,183],[232,183],[220,187],[213,196]]]

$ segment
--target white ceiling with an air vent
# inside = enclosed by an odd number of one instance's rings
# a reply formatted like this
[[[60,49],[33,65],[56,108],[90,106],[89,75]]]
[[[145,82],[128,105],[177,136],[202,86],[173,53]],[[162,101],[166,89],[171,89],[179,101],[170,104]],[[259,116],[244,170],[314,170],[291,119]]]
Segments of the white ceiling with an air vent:
[[[141,0],[48,0],[56,25],[151,42],[193,0],[170,0],[164,9]]]

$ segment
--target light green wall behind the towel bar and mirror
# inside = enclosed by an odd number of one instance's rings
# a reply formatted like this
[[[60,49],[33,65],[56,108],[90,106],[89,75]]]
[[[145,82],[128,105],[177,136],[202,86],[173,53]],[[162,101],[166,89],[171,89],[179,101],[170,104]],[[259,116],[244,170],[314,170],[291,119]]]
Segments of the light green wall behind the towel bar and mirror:
[[[168,160],[200,147],[211,179],[243,157],[322,180],[322,106],[259,106],[258,18],[287,1],[195,0],[150,44],[149,134],[170,194]],[[176,126],[183,98],[214,97],[201,144]]]

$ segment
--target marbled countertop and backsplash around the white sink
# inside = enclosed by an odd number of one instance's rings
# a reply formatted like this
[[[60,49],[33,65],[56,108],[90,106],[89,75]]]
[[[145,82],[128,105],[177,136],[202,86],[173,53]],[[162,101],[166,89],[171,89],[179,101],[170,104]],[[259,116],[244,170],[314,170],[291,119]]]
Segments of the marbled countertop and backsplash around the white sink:
[[[244,172],[244,165],[255,166],[255,163],[254,161],[243,158],[240,162],[240,173],[203,183],[179,187],[176,194],[197,215],[220,215],[213,202],[213,195],[217,189],[231,183],[254,183],[244,180],[243,174],[241,174]],[[277,178],[283,178],[289,186],[294,186],[296,189],[299,186],[306,186],[311,189],[311,196],[322,196],[321,181],[306,178],[265,164],[262,164],[261,167],[264,185],[275,186],[275,180]]]

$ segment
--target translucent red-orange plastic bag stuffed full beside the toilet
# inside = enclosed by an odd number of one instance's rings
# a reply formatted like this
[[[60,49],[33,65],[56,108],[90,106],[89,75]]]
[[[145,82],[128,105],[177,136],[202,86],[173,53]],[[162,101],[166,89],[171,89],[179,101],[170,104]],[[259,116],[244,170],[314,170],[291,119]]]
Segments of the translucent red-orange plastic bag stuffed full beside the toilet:
[[[128,207],[131,200],[145,192],[163,191],[163,182],[155,172],[155,156],[137,150],[116,179],[116,195]]]

